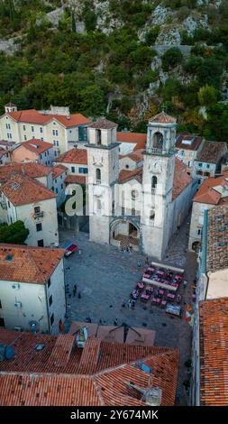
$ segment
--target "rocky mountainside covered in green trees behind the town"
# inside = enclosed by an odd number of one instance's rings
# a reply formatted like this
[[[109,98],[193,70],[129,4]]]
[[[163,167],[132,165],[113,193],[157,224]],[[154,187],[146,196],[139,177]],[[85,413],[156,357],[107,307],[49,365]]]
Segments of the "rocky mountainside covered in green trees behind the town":
[[[228,139],[228,0],[0,0],[0,108],[70,106]]]

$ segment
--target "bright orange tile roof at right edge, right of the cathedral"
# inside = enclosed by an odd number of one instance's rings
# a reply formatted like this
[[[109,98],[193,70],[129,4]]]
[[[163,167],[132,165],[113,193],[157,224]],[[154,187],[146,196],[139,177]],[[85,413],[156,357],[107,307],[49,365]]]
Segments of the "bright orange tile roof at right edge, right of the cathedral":
[[[202,186],[198,189],[194,202],[207,203],[210,205],[219,205],[225,200],[224,195],[226,192],[216,190],[219,186],[227,187],[228,186],[228,171],[223,170],[223,175],[218,178],[210,177],[206,179]],[[228,196],[228,191],[227,191]],[[228,200],[228,198],[226,199]]]

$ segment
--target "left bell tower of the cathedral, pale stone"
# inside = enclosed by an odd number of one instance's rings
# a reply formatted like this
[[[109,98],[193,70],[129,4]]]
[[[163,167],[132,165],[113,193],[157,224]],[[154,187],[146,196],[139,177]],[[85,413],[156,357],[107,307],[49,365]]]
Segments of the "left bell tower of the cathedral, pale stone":
[[[117,125],[104,118],[88,126],[88,210],[90,240],[109,244],[114,184],[119,178]]]

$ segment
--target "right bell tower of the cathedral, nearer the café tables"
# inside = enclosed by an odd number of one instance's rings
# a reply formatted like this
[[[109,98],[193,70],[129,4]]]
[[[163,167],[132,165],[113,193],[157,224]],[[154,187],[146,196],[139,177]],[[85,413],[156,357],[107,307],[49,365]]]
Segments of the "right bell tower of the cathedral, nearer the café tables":
[[[169,214],[175,167],[177,120],[161,112],[148,124],[141,211],[144,253],[162,259],[169,244]]]

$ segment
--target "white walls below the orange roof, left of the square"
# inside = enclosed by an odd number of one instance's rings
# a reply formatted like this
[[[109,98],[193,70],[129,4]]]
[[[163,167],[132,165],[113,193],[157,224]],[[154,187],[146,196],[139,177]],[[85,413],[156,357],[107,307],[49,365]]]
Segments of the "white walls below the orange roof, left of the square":
[[[17,285],[19,288],[14,288]],[[49,288],[48,283],[0,281],[0,300],[0,318],[4,318],[6,328],[22,327],[23,331],[31,331],[31,321],[36,321],[39,332],[58,334],[59,319],[64,321],[66,313],[63,259],[50,277]],[[14,306],[15,302],[21,302],[21,306]],[[54,322],[51,325],[52,313]]]

